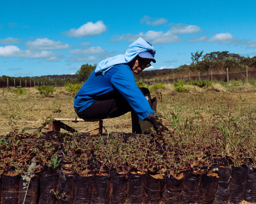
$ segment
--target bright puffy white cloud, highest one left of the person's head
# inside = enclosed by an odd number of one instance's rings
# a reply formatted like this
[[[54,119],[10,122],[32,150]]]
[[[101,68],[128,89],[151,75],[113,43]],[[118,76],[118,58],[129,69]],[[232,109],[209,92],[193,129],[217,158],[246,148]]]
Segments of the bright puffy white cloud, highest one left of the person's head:
[[[66,32],[69,37],[86,37],[92,35],[100,35],[106,31],[106,26],[102,21],[97,21],[95,24],[88,22],[78,29],[72,28]]]

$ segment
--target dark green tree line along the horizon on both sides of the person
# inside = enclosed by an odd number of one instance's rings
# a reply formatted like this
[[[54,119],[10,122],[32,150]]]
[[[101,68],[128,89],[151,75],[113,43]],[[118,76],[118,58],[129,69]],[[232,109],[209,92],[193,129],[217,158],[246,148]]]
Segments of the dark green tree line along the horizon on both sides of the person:
[[[161,70],[150,70],[143,71],[140,75],[134,75],[136,80],[149,79],[158,76],[164,75],[173,75],[174,73],[179,72],[194,72],[200,71],[200,73],[207,72],[209,70],[228,70],[230,71],[244,71],[246,66],[248,67],[256,67],[256,56],[250,57],[242,57],[238,54],[229,53],[228,51],[222,52],[211,52],[203,55],[203,51],[197,51],[196,53],[191,53],[192,63],[189,65],[181,65],[176,69],[161,69]],[[81,82],[85,82],[87,78],[90,76],[92,71],[95,69],[96,65],[82,65],[80,69],[74,75],[44,75],[40,77],[8,77],[3,75],[0,77],[0,86],[6,86],[6,81],[10,84],[13,84],[14,81],[17,82],[17,86],[19,83],[31,83],[37,82],[37,84],[47,85],[57,85],[63,86],[66,83],[78,84]],[[36,84],[34,84],[35,86]]]

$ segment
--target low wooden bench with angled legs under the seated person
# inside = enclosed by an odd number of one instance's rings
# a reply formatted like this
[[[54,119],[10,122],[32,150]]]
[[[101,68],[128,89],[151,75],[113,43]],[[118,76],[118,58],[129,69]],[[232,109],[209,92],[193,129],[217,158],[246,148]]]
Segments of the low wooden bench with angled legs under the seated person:
[[[54,118],[49,124],[48,124],[48,131],[60,131],[60,128],[65,129],[66,131],[70,131],[72,133],[77,133],[76,129],[68,126],[67,124],[64,124],[62,121],[71,121],[71,122],[93,122],[92,125],[84,128],[81,132],[90,132],[94,131],[94,134],[102,133],[102,124],[103,121],[100,119],[88,119],[84,120],[81,118]]]

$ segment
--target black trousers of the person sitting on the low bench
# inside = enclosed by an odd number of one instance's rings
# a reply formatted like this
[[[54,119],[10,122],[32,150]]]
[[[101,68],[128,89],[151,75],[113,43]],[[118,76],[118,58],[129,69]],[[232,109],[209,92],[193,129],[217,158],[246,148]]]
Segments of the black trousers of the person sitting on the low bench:
[[[143,95],[150,94],[147,88],[139,89]],[[76,114],[82,119],[105,119],[122,116],[131,111],[133,111],[132,107],[127,100],[121,94],[118,94],[106,100],[96,100],[86,110],[76,112]]]

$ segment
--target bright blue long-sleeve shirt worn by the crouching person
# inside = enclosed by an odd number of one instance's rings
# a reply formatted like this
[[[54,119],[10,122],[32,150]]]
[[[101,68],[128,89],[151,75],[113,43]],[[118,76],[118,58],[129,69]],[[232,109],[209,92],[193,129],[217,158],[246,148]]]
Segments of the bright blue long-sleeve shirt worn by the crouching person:
[[[81,112],[95,100],[104,100],[122,94],[139,118],[145,120],[154,114],[147,99],[136,85],[133,72],[126,64],[115,65],[104,76],[93,71],[74,98],[74,108]]]

